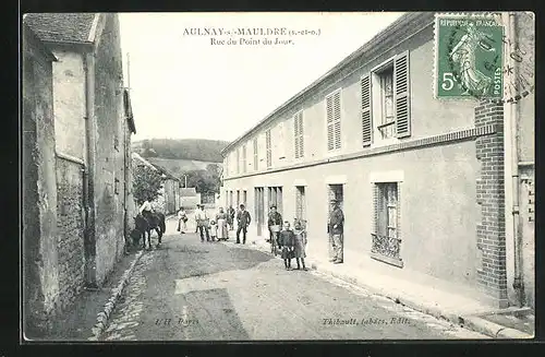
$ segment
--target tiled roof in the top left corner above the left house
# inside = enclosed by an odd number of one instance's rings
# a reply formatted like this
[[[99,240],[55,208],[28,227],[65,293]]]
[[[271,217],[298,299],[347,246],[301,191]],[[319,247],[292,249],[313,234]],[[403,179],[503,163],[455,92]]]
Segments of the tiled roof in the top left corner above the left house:
[[[94,41],[95,17],[98,13],[31,13],[26,23],[44,41],[82,43]]]

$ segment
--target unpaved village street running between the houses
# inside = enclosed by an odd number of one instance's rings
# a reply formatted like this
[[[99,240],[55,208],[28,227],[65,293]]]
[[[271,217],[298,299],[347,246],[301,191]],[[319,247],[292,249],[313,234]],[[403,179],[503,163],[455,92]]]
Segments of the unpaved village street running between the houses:
[[[174,231],[171,219],[162,246],[137,263],[104,340],[485,337],[318,272],[286,271],[279,259],[235,245],[234,233],[228,242],[201,242]]]

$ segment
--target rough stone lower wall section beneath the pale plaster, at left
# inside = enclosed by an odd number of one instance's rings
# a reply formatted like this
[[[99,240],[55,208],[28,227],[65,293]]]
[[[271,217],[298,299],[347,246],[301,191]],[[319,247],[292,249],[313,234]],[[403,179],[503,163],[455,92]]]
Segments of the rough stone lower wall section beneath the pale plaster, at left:
[[[57,159],[59,287],[62,309],[71,306],[85,284],[83,166]]]

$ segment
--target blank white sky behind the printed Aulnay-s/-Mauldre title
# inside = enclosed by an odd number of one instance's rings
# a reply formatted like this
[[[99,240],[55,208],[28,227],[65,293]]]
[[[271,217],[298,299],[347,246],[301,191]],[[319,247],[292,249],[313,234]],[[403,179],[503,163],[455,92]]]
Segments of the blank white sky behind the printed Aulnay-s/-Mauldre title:
[[[401,14],[121,13],[133,140],[235,140]],[[300,34],[235,33],[281,27]],[[264,38],[292,43],[265,45]]]

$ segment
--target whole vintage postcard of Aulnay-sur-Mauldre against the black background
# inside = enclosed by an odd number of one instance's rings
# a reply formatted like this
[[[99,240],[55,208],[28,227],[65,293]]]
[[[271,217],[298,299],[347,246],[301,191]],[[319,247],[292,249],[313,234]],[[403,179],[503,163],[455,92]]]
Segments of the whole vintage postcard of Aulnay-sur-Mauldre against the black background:
[[[22,342],[533,338],[534,17],[24,14]]]

